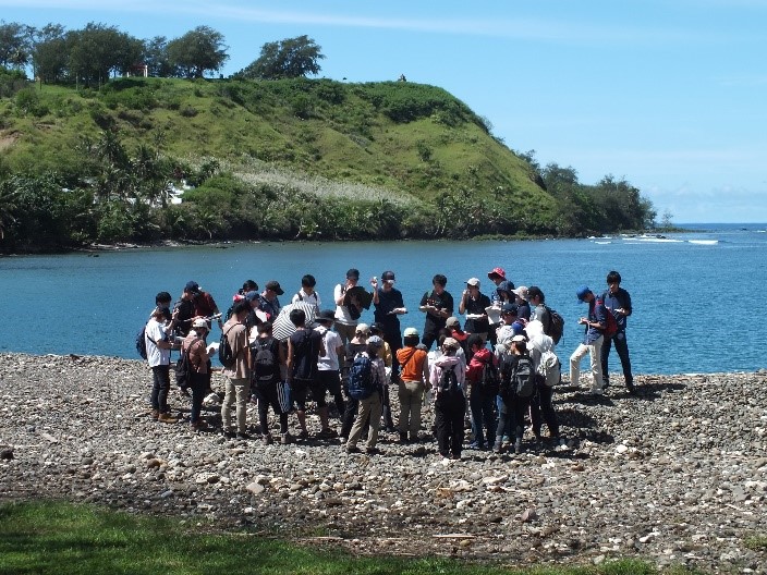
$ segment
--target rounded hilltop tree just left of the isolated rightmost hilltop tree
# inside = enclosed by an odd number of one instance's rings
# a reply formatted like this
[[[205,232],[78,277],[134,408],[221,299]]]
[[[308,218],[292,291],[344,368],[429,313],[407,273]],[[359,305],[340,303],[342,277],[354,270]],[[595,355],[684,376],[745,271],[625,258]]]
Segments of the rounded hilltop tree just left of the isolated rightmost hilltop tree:
[[[202,78],[207,71],[216,72],[229,59],[223,35],[209,26],[197,26],[181,38],[168,42],[168,61],[181,76]]]

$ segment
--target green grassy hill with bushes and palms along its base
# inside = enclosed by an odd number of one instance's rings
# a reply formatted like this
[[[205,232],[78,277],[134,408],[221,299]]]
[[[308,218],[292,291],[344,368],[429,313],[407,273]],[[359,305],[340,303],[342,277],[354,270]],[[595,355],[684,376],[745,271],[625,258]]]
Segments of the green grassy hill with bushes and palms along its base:
[[[162,238],[561,235],[589,230],[564,218],[573,201],[597,206],[580,184],[548,193],[536,166],[434,86],[122,78],[100,89],[0,94],[5,250]],[[182,181],[193,188],[170,205],[168,182]],[[601,227],[611,225],[626,227]]]

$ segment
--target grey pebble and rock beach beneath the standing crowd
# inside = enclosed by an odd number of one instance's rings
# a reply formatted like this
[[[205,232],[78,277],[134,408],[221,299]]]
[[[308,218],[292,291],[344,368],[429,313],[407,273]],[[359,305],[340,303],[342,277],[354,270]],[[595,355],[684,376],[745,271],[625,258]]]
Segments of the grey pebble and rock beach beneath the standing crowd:
[[[449,461],[431,440],[394,435],[367,456],[338,440],[264,445],[158,424],[141,362],[0,362],[0,501],[94,502],[362,553],[767,573],[765,548],[746,546],[767,537],[765,371],[641,376],[636,395],[616,377],[604,397],[564,384],[555,406],[568,449],[526,437],[521,455]],[[171,403],[188,417],[187,401],[173,392]],[[255,430],[253,407],[248,419]]]

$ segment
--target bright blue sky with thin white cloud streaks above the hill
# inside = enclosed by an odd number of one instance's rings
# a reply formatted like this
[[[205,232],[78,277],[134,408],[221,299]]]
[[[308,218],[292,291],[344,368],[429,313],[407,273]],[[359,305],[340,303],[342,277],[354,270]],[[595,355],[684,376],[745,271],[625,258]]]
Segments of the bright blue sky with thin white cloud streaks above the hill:
[[[0,19],[223,34],[224,74],[303,34],[320,76],[440,86],[516,150],[625,178],[683,222],[767,222],[767,0],[0,0]]]

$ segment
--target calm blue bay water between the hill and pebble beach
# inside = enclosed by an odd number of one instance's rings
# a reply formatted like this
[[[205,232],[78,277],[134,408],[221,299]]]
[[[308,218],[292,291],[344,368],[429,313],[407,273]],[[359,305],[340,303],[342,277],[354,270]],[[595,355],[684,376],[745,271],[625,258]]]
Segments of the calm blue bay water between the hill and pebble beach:
[[[435,273],[448,277],[448,291],[458,298],[471,277],[489,293],[487,272],[501,266],[516,285],[539,285],[565,318],[558,346],[563,359],[582,333],[576,321],[586,306],[577,303],[576,289],[585,283],[601,292],[607,272],[616,269],[634,305],[628,339],[636,374],[767,367],[767,313],[759,295],[767,284],[767,224],[690,228],[698,231],[665,240],[261,243],[0,258],[0,293],[10,314],[0,351],[137,358],[134,337],[159,291],[178,297],[193,279],[223,311],[246,279],[261,288],[280,281],[287,304],[301,277],[312,273],[327,308],[351,267],[361,270],[365,285],[392,269],[411,310],[401,317],[402,328],[421,330],[417,304]],[[372,315],[363,319],[369,322]],[[616,369],[617,356],[610,365]]]

